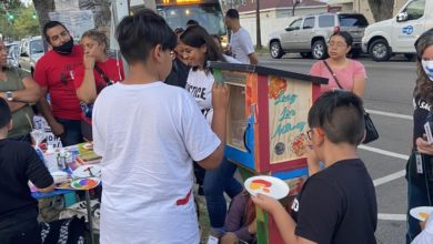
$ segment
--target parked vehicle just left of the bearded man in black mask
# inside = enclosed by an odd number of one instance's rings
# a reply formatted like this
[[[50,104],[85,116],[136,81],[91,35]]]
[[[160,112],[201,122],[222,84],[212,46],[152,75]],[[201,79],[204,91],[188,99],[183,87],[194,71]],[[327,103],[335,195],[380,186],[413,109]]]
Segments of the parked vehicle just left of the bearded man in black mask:
[[[43,53],[43,41],[40,35],[22,39],[18,58],[19,67],[33,74],[34,65]]]

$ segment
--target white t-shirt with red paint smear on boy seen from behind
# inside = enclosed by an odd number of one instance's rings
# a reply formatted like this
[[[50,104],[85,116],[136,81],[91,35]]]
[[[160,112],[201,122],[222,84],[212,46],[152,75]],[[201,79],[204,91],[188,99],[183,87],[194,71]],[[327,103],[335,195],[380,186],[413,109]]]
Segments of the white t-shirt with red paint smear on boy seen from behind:
[[[221,141],[184,89],[105,88],[93,108],[93,140],[102,156],[100,243],[199,243],[192,160]]]

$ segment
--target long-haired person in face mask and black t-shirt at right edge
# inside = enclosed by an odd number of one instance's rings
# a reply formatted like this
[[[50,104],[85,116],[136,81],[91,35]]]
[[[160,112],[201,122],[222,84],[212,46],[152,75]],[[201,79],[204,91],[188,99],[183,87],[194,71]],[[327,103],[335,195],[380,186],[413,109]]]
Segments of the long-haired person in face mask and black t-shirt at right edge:
[[[433,205],[433,144],[429,143],[425,125],[433,129],[433,29],[415,42],[417,79],[413,91],[413,149],[406,164],[407,234],[411,243],[420,233],[419,221],[409,214],[416,206]]]

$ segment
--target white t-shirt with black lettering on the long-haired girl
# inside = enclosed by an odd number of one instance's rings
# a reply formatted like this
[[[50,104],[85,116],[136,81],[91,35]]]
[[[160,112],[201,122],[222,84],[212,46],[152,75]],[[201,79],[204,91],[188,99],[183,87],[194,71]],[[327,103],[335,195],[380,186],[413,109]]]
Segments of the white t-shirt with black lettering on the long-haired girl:
[[[208,74],[202,70],[190,70],[187,79],[185,89],[195,99],[201,112],[204,114],[208,123],[212,124],[213,109],[212,109],[212,85],[214,82],[213,74]]]

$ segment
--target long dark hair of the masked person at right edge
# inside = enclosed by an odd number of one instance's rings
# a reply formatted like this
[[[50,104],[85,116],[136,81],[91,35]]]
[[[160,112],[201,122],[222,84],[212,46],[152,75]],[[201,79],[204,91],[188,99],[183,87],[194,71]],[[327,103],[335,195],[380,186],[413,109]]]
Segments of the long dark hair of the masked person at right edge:
[[[424,32],[415,42],[417,55],[417,78],[413,95],[425,100],[430,105],[433,104],[433,82],[430,81],[421,63],[425,49],[433,45],[433,29]]]

